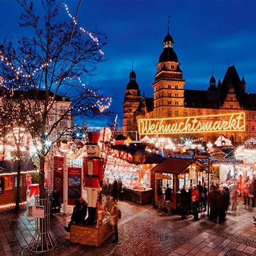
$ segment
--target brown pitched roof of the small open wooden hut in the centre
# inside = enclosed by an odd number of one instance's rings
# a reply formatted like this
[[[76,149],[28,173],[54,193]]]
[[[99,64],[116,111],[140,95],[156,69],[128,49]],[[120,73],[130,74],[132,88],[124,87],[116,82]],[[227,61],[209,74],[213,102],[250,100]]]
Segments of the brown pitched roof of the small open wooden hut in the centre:
[[[152,168],[152,171],[166,172],[168,174],[180,174],[181,172],[185,171],[191,164],[195,164],[197,170],[206,169],[203,164],[193,158],[167,158],[162,163]]]

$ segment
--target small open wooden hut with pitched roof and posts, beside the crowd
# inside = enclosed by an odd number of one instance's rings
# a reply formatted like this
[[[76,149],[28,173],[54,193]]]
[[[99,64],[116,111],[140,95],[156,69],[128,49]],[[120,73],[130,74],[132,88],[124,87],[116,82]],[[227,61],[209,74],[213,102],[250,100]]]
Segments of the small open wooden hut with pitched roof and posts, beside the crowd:
[[[190,184],[196,185],[201,181],[208,180],[208,168],[200,160],[189,157],[166,158],[151,170],[154,183],[154,207],[164,207],[164,190],[167,184],[174,193],[170,203],[171,209],[179,209],[181,203],[180,189],[183,185],[189,187]]]

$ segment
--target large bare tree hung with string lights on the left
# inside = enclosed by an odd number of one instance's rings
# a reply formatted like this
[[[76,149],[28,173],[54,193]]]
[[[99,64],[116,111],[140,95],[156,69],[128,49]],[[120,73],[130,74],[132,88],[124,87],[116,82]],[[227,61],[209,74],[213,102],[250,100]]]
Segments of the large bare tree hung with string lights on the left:
[[[61,6],[56,1],[42,1],[41,16],[32,2],[18,2],[23,9],[19,25],[29,32],[18,43],[6,39],[1,46],[1,75],[6,81],[2,88],[16,94],[17,113],[26,113],[23,126],[35,146],[41,145],[39,186],[43,198],[44,161],[61,135],[56,134],[61,120],[101,114],[108,104],[109,98],[82,83],[83,77],[93,74],[96,64],[103,60],[101,49],[105,38],[102,41],[94,34],[92,40],[76,26],[76,19],[62,21]],[[58,118],[51,120],[61,97],[70,104],[64,112],[57,113]]]

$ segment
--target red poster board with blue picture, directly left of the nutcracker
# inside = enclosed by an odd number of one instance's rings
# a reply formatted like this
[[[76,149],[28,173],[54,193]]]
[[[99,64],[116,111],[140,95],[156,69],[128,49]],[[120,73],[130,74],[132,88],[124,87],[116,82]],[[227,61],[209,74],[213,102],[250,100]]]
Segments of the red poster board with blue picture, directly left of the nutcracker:
[[[68,204],[75,205],[75,201],[82,196],[82,168],[68,167]]]

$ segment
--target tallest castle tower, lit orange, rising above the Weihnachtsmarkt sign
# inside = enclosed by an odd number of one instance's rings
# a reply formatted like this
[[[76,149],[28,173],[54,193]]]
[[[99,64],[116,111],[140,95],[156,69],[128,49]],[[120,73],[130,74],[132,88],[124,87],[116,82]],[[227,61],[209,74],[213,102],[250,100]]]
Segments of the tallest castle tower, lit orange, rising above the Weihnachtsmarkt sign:
[[[174,52],[174,40],[169,34],[163,40],[163,52],[159,57],[154,90],[154,117],[182,117],[184,108],[184,84],[180,63]]]

